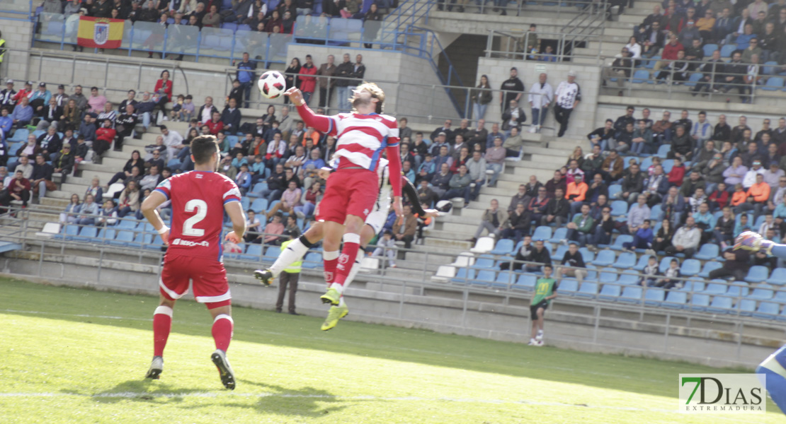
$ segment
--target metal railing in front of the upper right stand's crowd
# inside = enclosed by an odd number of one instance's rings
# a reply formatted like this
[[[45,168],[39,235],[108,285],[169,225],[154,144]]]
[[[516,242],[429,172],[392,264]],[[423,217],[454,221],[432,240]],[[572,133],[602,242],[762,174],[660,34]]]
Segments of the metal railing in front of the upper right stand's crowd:
[[[783,97],[777,94],[784,89],[783,86],[766,85],[771,77],[783,78],[777,77],[776,74],[780,66],[759,64],[755,78],[749,78],[747,72],[739,74],[718,72],[719,66],[707,67],[708,71],[703,72],[701,66],[707,64],[706,61],[682,60],[681,62],[688,64],[689,71],[678,72],[674,68],[666,67],[670,60],[658,58],[631,60],[630,67],[627,68],[604,65],[601,67],[601,84],[607,89],[618,87],[626,92],[626,96],[633,96],[634,92],[637,95],[641,92],[657,92],[660,99],[671,99],[678,94],[692,94],[707,96],[706,100],[710,101],[727,102],[730,96],[740,96],[744,103],[754,103],[756,98]],[[658,63],[662,67],[656,70]],[[741,64],[747,69],[751,63]],[[626,77],[625,72],[630,76]],[[622,87],[619,85],[619,78],[623,79]],[[709,79],[704,81],[702,78]],[[746,82],[746,79],[749,81]],[[697,88],[702,90],[694,91]]]

